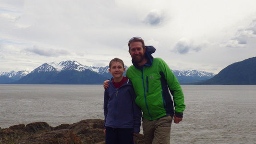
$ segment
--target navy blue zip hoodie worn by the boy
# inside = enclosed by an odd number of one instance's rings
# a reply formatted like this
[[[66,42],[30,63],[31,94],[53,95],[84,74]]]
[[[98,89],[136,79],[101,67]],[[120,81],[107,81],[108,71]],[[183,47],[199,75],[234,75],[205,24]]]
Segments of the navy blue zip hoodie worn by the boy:
[[[115,88],[112,79],[104,92],[105,127],[134,129],[140,132],[142,112],[135,104],[133,84],[128,79],[122,86]]]

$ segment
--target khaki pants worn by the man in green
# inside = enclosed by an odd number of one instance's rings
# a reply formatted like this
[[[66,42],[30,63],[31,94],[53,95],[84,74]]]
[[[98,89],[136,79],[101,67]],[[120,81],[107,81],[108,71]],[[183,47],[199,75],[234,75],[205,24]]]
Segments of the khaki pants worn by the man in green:
[[[143,134],[146,144],[170,144],[171,116],[157,120],[142,118]]]

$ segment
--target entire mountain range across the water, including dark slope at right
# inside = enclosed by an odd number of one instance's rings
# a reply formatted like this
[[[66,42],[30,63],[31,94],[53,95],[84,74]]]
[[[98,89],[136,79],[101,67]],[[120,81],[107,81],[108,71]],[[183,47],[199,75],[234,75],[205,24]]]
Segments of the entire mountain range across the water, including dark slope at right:
[[[255,84],[256,69],[252,69],[255,65],[256,57],[253,57],[235,62],[217,75],[196,70],[172,70],[172,72],[180,84]],[[102,84],[111,76],[108,69],[108,66],[90,67],[71,60],[60,63],[49,62],[30,73],[0,72],[0,84]],[[17,80],[14,80],[15,77]]]

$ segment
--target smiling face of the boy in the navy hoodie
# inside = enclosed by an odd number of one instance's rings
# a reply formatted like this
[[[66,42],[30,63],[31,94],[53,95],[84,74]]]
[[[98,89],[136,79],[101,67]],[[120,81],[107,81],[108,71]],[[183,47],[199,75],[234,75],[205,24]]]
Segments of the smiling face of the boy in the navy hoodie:
[[[113,61],[109,71],[113,78],[121,78],[125,68],[122,66],[122,63]]]

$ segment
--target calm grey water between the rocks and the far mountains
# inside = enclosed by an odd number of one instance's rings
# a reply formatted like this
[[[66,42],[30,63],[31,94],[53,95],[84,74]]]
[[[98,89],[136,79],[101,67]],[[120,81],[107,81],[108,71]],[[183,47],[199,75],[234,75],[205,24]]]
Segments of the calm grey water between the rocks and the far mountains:
[[[172,144],[256,144],[256,85],[182,85],[183,121]],[[0,127],[104,119],[102,85],[0,84]]]

